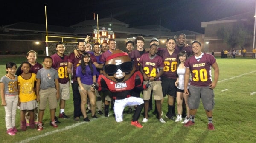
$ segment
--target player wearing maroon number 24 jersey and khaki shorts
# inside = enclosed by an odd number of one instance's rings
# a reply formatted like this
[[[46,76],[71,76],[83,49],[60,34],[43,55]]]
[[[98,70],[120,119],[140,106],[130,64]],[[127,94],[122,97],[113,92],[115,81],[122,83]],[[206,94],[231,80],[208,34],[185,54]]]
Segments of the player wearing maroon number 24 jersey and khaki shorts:
[[[149,48],[148,54],[143,54],[140,57],[140,71],[143,74],[143,84],[146,84],[148,81],[152,82],[151,87],[143,90],[143,100],[144,104],[144,113],[145,118],[143,118],[142,122],[146,123],[148,121],[148,106],[150,93],[153,90],[154,100],[156,101],[157,111],[158,111],[158,120],[161,123],[166,123],[161,118],[162,113],[162,104],[161,100],[163,99],[162,86],[160,81],[160,76],[163,74],[163,58],[156,55],[157,53],[157,45],[152,44]]]

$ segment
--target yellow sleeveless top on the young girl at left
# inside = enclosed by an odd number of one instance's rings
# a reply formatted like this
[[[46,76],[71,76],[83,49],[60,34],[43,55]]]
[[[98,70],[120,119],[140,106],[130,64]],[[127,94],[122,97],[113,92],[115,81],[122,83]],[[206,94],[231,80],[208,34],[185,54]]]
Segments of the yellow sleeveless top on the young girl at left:
[[[23,79],[18,76],[18,85],[20,85],[20,102],[28,102],[36,99],[34,84],[36,81],[36,74],[32,73],[30,79]]]

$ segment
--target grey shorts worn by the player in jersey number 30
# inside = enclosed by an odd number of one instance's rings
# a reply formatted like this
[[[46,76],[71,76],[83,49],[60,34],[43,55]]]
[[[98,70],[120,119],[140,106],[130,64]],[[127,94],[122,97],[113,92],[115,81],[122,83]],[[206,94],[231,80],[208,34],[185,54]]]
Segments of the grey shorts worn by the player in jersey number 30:
[[[200,98],[202,99],[202,103],[205,110],[211,111],[214,108],[214,93],[213,90],[209,88],[209,86],[196,87],[189,85],[189,92],[189,109],[198,109],[200,104]]]

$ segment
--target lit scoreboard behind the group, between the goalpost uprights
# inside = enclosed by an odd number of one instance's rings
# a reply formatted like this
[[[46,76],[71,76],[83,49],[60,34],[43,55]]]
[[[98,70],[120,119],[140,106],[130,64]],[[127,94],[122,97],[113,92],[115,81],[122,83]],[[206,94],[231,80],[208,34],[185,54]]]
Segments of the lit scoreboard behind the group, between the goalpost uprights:
[[[115,33],[111,28],[99,27],[98,33],[98,29],[93,27],[93,39],[95,39],[95,42],[98,42],[98,39],[100,43],[108,42],[110,38],[115,39]]]

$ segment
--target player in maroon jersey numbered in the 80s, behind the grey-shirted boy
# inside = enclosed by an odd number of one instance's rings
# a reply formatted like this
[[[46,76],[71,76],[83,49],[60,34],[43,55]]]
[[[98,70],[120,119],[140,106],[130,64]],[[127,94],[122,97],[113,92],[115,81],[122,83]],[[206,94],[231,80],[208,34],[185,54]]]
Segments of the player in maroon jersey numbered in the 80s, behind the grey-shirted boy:
[[[69,74],[67,73],[68,56],[64,55],[65,47],[66,46],[63,42],[58,42],[56,44],[57,53],[55,53],[51,57],[53,60],[52,68],[58,71],[58,76],[59,76],[58,81],[59,81],[59,90],[60,90],[60,103],[59,103],[60,114],[58,117],[69,119],[70,117],[68,117],[64,113],[66,100],[70,98]],[[56,111],[55,111],[55,114],[56,114]]]

